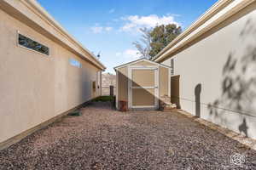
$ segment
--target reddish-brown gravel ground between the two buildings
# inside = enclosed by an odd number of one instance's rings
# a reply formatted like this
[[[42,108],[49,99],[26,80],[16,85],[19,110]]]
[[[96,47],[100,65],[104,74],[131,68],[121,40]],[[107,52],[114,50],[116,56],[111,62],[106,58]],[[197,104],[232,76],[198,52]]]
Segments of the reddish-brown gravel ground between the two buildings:
[[[0,169],[256,169],[256,151],[178,113],[82,111],[0,151]]]

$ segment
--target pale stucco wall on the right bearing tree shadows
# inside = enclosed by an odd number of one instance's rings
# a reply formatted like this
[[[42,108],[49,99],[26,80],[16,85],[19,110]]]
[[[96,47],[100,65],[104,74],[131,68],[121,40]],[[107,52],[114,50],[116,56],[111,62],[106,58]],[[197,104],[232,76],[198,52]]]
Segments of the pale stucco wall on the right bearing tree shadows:
[[[181,108],[254,139],[255,9],[253,3],[173,56]]]

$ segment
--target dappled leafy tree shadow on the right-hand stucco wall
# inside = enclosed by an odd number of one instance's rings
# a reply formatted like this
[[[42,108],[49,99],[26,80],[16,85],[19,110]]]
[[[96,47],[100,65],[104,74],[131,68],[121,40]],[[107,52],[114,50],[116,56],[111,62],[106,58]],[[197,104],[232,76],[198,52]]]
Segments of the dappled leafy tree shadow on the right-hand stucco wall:
[[[247,20],[239,35],[241,45],[230,52],[223,67],[222,94],[208,105],[210,115],[226,124],[224,112],[237,112],[240,133],[246,136],[248,116],[256,117],[256,22]],[[232,116],[232,114],[230,114]]]

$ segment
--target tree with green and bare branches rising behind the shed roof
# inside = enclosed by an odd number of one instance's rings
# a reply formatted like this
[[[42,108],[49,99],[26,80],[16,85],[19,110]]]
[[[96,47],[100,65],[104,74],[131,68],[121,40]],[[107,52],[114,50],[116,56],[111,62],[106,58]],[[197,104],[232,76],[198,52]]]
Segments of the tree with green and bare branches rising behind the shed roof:
[[[182,29],[176,24],[155,26],[153,30],[141,29],[143,37],[140,42],[133,42],[138,51],[147,59],[152,59],[156,54],[165,48]],[[147,53],[144,53],[144,52]],[[142,53],[143,52],[143,53]]]

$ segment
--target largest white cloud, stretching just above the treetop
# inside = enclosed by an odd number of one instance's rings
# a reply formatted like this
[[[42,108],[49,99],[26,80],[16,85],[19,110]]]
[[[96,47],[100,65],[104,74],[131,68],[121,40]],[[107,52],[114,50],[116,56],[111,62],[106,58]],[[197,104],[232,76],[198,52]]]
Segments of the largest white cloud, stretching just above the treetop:
[[[138,16],[130,15],[123,17],[122,20],[125,20],[125,26],[120,28],[121,31],[138,31],[139,28],[152,28],[154,26],[168,25],[168,24],[179,24],[174,20],[174,16],[167,14],[163,16],[158,16],[156,14],[151,14],[148,16]]]

